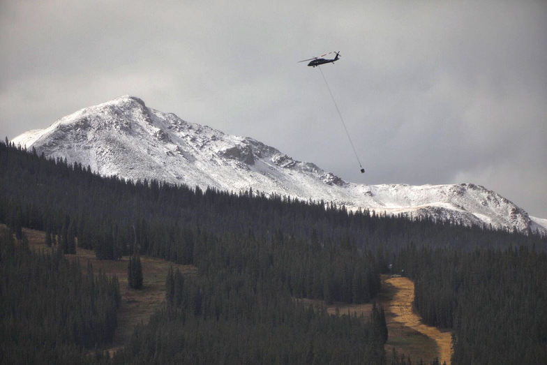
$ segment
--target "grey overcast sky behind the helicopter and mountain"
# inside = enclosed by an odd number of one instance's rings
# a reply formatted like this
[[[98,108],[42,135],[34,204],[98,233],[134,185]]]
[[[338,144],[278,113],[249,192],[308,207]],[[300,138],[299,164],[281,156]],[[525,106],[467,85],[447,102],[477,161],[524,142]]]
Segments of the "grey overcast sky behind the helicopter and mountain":
[[[123,94],[347,181],[547,218],[546,1],[0,0],[0,135]],[[340,50],[320,70],[297,63]]]

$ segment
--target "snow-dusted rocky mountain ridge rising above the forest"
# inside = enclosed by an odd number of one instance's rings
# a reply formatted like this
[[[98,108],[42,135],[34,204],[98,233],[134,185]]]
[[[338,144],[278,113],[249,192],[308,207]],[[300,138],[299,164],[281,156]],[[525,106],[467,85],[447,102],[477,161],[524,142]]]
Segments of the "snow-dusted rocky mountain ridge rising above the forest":
[[[84,108],[12,142],[126,179],[158,179],[234,192],[253,188],[382,214],[547,232],[546,219],[530,218],[482,186],[354,184],[253,138],[227,135],[154,110],[134,96]]]

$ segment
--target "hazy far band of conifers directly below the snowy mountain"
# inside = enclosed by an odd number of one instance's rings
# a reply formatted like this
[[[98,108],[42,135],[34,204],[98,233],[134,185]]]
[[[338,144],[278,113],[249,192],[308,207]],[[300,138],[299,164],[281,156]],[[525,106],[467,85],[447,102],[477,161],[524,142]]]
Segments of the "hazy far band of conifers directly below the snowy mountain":
[[[105,259],[133,253],[136,244],[143,255],[193,263],[198,230],[254,237],[282,232],[310,244],[315,239],[372,251],[397,251],[411,241],[465,249],[546,246],[545,237],[536,234],[377,216],[253,191],[100,177],[79,163],[47,160],[9,142],[0,142],[0,172],[0,222],[49,230],[68,242],[74,235],[80,246]]]

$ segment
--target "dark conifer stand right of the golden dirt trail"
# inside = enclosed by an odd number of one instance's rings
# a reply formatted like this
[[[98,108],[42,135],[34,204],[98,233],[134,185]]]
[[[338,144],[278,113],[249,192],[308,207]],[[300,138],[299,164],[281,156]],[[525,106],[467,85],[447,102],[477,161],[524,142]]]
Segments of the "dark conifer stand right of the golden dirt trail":
[[[414,279],[414,304],[425,322],[454,330],[454,364],[547,359],[545,251],[409,246],[397,267]]]

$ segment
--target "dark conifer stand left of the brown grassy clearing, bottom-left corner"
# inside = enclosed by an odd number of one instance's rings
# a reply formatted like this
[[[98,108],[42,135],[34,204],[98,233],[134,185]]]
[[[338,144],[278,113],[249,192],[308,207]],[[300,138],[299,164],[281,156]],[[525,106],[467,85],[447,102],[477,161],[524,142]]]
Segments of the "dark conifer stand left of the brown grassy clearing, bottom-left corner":
[[[0,363],[77,364],[82,349],[112,341],[117,278],[82,273],[61,251],[33,253],[0,230]]]

